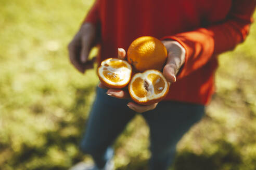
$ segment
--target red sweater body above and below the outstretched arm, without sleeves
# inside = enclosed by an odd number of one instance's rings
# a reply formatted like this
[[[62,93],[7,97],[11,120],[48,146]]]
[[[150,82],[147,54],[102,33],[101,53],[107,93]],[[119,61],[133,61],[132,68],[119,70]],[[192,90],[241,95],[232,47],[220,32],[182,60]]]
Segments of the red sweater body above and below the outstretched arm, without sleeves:
[[[117,57],[140,36],[163,38],[225,22],[232,0],[99,0],[100,60]],[[242,1],[242,0],[241,0]],[[206,42],[207,43],[207,42]],[[214,92],[215,57],[171,84],[165,100],[206,104]]]

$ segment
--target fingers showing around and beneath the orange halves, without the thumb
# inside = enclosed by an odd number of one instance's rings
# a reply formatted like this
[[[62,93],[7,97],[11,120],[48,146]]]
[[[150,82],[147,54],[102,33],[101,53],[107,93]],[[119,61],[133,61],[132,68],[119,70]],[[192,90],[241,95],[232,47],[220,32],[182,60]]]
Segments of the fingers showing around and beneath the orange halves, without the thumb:
[[[119,59],[125,59],[125,50],[124,49],[122,49],[122,48],[118,49],[118,58]],[[99,83],[99,88],[108,89],[102,83]],[[121,98],[121,99],[131,98],[130,94],[129,94],[129,91],[127,91],[127,89],[108,89],[107,94],[109,96],[117,97],[117,98]],[[130,109],[132,109],[132,110],[134,110],[136,112],[142,113],[142,112],[145,112],[145,111],[149,111],[149,110],[155,109],[157,104],[158,103],[145,106],[145,105],[139,105],[139,104],[134,103],[134,102],[129,102],[127,104],[127,106]]]

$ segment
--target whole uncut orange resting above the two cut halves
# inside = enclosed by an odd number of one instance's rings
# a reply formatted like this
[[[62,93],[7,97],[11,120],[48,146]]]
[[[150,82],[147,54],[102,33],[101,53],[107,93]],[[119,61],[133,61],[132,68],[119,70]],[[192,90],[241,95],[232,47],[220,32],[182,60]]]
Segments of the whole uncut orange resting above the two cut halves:
[[[139,72],[147,69],[162,70],[167,60],[167,49],[157,38],[139,37],[129,46],[127,60]]]

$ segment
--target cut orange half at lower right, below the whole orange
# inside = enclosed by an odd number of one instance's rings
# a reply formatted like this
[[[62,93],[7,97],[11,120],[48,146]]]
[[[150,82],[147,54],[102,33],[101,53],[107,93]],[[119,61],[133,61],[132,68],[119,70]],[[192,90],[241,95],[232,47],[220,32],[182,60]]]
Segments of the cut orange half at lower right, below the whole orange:
[[[129,83],[132,99],[142,105],[160,102],[168,94],[169,83],[163,74],[156,69],[136,73]]]

